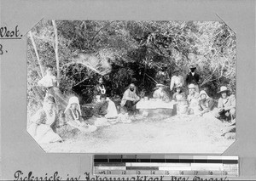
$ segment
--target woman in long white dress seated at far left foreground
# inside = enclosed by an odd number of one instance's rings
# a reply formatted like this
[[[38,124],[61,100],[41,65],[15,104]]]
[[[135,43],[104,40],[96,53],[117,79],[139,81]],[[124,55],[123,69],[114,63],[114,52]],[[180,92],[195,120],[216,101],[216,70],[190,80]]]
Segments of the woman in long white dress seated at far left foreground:
[[[38,143],[61,142],[61,137],[56,133],[59,120],[55,111],[55,98],[47,95],[44,98],[44,105],[41,110],[32,116],[32,124],[28,132]]]

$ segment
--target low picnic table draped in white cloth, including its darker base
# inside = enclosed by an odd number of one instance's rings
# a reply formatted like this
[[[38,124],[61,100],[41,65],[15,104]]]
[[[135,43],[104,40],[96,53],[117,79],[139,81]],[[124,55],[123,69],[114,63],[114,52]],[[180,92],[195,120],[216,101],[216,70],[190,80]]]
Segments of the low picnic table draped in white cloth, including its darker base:
[[[173,110],[176,110],[176,103],[173,101],[166,102],[160,99],[141,99],[137,102],[136,108],[141,114],[146,113],[148,116],[173,116],[175,114]]]

